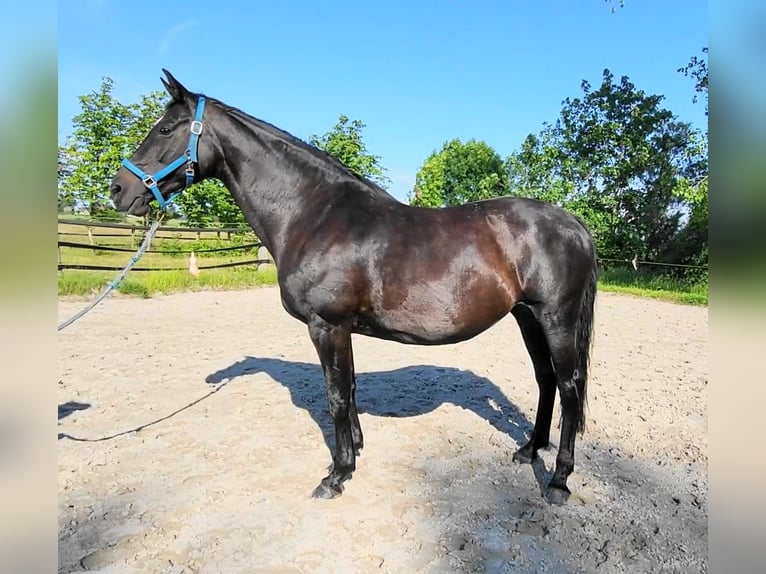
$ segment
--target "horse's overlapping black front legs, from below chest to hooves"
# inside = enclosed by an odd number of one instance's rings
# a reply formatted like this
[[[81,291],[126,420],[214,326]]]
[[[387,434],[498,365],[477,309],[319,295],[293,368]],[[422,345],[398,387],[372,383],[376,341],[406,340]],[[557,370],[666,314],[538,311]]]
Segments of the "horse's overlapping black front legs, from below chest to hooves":
[[[309,322],[309,336],[322,363],[330,416],[335,423],[335,454],[329,475],[314,489],[314,498],[334,498],[356,468],[351,429],[351,396],[354,387],[351,332],[316,318]]]

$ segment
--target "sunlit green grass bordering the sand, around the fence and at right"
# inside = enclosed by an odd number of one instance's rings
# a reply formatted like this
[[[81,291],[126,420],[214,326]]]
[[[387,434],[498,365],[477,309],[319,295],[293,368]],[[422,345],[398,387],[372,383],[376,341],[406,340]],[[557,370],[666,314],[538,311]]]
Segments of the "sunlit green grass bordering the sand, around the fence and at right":
[[[122,246],[136,249],[140,236],[130,230],[98,228],[94,225],[93,241],[98,245]],[[62,240],[87,244],[87,228],[59,224]],[[101,233],[102,235],[99,235]],[[76,235],[75,235],[76,234]],[[224,234],[225,235],[225,234]],[[157,251],[195,250],[199,267],[231,263],[256,258],[256,250],[236,250],[222,253],[205,253],[199,250],[255,242],[252,234],[219,236],[215,231],[201,234],[164,232],[152,241],[151,249]],[[96,251],[91,249],[59,248],[59,258],[68,264],[108,265],[122,268],[130,260],[131,253]],[[188,255],[170,253],[147,253],[138,262],[139,267],[181,268],[180,270],[131,271],[119,287],[125,295],[151,297],[155,294],[181,291],[247,289],[262,285],[276,285],[277,276],[273,266],[253,265],[223,269],[201,269],[198,277],[187,270]],[[64,296],[89,297],[98,294],[117,276],[118,271],[80,271],[67,269],[59,273],[58,293]],[[604,269],[599,277],[599,290],[625,293],[639,297],[662,299],[676,303],[707,305],[707,277],[691,280],[669,275],[652,274],[646,270],[635,271],[630,267]]]

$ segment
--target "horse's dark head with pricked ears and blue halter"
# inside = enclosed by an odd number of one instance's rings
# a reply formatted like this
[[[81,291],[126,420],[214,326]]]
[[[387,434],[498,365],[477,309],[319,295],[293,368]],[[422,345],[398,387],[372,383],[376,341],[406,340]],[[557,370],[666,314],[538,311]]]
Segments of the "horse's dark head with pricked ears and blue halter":
[[[115,207],[132,215],[147,213],[153,199],[164,208],[173,196],[208,177],[205,166],[213,163],[212,146],[201,137],[205,98],[163,72],[172,100],[136,152],[123,160],[110,186]]]

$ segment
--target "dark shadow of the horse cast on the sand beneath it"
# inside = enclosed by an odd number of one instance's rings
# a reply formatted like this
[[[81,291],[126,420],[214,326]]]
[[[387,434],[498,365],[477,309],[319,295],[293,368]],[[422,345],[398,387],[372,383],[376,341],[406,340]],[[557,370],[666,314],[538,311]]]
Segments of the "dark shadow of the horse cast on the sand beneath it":
[[[205,381],[217,385],[254,373],[266,373],[289,390],[293,404],[311,415],[322,430],[325,444],[333,450],[335,432],[318,364],[246,357],[211,373]],[[486,420],[507,434],[519,447],[526,443],[532,430],[532,423],[492,381],[471,371],[416,365],[391,371],[356,373],[356,382],[356,403],[360,414],[410,417],[451,403]],[[548,472],[540,464],[533,466],[542,489],[549,478]]]

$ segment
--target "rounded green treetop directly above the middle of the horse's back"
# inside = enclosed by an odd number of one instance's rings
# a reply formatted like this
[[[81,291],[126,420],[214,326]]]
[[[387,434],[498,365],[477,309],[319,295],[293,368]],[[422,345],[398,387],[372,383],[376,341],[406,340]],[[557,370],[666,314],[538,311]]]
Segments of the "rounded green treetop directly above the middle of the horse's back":
[[[421,207],[459,205],[504,195],[503,160],[487,143],[445,142],[418,170],[410,203]]]

